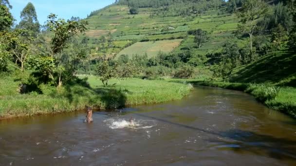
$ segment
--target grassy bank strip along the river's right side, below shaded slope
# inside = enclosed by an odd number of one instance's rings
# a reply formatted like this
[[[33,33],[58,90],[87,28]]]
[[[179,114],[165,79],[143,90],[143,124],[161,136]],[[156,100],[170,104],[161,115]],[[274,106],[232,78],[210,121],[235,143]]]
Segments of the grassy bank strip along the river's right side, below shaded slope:
[[[191,83],[194,85],[243,91],[251,94],[267,107],[296,118],[296,88],[294,87],[273,86],[269,84],[211,82],[185,79],[166,79],[166,81],[175,83]]]

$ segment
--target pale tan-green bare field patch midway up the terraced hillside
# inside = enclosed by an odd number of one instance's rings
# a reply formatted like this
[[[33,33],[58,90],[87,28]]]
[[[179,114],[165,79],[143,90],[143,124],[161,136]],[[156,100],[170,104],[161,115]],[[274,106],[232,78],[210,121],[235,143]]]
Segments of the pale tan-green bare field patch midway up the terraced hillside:
[[[147,53],[148,57],[155,57],[159,51],[168,53],[174,50],[180,45],[182,39],[175,40],[162,40],[162,41],[150,41],[150,42],[137,42],[130,47],[120,51],[118,53],[119,57],[122,54],[129,55],[144,55]]]

